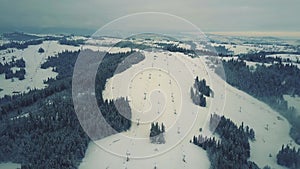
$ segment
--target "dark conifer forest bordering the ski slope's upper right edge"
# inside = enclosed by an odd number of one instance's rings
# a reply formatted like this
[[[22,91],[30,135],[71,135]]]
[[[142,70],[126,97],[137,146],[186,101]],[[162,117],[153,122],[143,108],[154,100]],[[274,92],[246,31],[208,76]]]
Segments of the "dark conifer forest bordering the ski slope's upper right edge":
[[[242,60],[223,61],[226,81],[280,112],[292,124],[291,137],[300,144],[300,117],[283,95],[300,95],[300,69],[293,64],[257,65],[254,71]],[[216,69],[216,73],[218,73]]]

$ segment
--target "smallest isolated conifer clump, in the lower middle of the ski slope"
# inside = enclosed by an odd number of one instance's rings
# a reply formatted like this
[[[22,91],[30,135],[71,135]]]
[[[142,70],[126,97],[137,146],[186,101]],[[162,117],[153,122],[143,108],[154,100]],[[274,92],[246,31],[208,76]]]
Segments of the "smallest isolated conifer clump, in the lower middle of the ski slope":
[[[150,128],[150,141],[151,143],[155,144],[164,144],[166,142],[164,133],[165,133],[166,127],[163,123],[161,123],[161,126],[158,125],[158,123],[151,123]]]

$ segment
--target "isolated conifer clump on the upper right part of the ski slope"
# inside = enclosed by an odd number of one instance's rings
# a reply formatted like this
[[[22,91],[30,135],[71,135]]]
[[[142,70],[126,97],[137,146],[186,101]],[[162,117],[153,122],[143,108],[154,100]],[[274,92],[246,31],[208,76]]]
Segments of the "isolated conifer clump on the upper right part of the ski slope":
[[[201,107],[206,107],[206,97],[210,97],[212,90],[206,85],[206,80],[199,80],[198,76],[195,78],[193,87],[191,87],[191,99],[194,104]],[[206,97],[205,97],[206,96]]]

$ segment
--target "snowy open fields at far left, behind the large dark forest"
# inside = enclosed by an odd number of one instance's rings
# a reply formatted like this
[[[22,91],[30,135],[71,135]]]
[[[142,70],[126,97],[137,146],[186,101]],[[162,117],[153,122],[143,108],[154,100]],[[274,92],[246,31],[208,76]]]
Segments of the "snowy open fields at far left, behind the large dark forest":
[[[117,41],[117,39],[115,40]],[[105,38],[103,43],[115,42],[112,38]],[[44,53],[38,53],[39,48],[45,50]],[[56,72],[52,71],[52,68],[41,69],[41,64],[47,60],[48,56],[57,56],[58,53],[63,51],[77,51],[82,47],[61,45],[57,41],[44,41],[40,45],[30,45],[28,48],[20,50],[10,48],[7,50],[0,51],[0,62],[2,64],[10,62],[13,58],[25,60],[25,79],[19,80],[17,78],[5,79],[5,74],[0,75],[0,97],[4,95],[14,95],[16,93],[28,92],[30,89],[42,89],[47,85],[43,83],[48,78],[55,78]],[[106,46],[95,46],[85,45],[84,49],[91,49],[94,51],[105,51],[109,53],[128,52],[130,48],[119,48],[119,47],[106,47]],[[13,67],[12,71],[19,70],[17,67]]]

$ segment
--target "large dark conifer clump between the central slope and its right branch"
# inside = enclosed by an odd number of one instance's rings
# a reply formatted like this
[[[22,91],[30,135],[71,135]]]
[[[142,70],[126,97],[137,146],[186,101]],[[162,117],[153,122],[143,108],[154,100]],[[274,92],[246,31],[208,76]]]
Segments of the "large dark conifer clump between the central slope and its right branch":
[[[221,140],[199,135],[194,136],[190,142],[207,151],[212,169],[259,169],[254,162],[248,161],[248,140],[255,139],[253,129],[244,127],[243,123],[237,127],[230,119],[216,114],[210,118],[210,127],[215,129],[214,133],[218,134]]]

